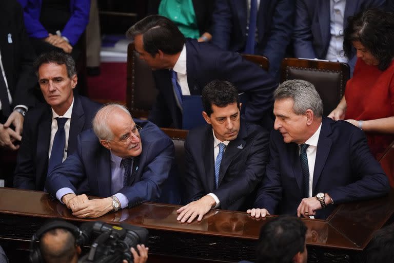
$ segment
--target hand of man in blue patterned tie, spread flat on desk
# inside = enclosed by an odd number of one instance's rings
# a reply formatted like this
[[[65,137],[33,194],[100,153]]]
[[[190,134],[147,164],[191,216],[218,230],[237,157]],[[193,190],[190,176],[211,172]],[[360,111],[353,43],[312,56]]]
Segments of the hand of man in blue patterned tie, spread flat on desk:
[[[176,210],[176,213],[181,213],[176,218],[176,220],[181,221],[182,223],[186,222],[187,220],[188,223],[191,223],[194,218],[199,216],[197,221],[200,222],[203,219],[203,216],[208,213],[215,204],[216,202],[212,196],[203,196],[199,200],[190,202],[185,206],[182,206],[182,208]]]

